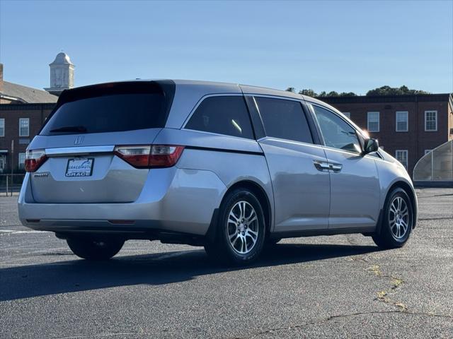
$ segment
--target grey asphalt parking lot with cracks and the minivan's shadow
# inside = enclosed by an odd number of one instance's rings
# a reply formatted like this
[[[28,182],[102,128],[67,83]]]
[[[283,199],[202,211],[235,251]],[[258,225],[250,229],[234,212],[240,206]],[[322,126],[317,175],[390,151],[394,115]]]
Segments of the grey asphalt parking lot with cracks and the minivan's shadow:
[[[0,197],[0,337],[453,338],[453,189],[417,191],[403,249],[360,234],[286,239],[248,268],[146,241],[79,260]]]

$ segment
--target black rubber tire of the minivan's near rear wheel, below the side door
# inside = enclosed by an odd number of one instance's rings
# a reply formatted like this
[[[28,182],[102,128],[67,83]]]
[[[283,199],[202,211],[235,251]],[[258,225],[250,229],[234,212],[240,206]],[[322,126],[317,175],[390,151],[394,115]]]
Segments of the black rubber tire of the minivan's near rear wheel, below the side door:
[[[241,212],[242,208],[240,206],[243,202],[246,203],[243,205],[245,206],[243,208],[245,211],[243,215],[246,215],[245,221],[239,220],[237,223],[231,222],[231,220],[236,220],[237,216],[240,217],[241,213],[238,212]],[[253,217],[247,219],[248,213],[253,215],[252,208],[256,213],[256,221],[253,220]],[[231,212],[234,214],[234,218],[230,217]],[[229,218],[231,218],[230,222]],[[250,226],[247,225],[247,220],[253,220],[251,221]],[[256,238],[254,238],[251,232],[256,231],[258,234],[256,235]],[[237,234],[235,232],[237,232]],[[231,242],[229,240],[230,235],[231,237],[235,236]],[[254,239],[256,240],[252,245]],[[214,259],[214,261],[220,263],[247,265],[256,261],[263,250],[264,241],[265,219],[263,208],[261,207],[258,198],[256,198],[255,194],[248,189],[234,189],[234,191],[231,191],[222,201],[222,205],[219,209],[219,219],[214,240],[205,244],[207,255]],[[250,249],[248,249],[248,246],[251,246]],[[243,249],[245,249],[245,251],[243,251]],[[240,251],[247,252],[239,253]]]

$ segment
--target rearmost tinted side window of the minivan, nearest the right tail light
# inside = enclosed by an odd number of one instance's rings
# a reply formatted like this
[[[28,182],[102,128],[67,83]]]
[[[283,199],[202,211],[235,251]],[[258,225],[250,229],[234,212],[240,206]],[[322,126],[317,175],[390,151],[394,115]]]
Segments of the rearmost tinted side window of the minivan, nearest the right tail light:
[[[242,96],[207,97],[185,128],[253,139],[250,117]]]

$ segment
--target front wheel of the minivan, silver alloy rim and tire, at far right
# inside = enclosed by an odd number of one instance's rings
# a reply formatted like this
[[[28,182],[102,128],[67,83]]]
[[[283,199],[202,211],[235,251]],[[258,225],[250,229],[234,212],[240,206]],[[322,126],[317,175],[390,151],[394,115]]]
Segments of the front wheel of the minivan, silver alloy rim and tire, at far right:
[[[384,208],[381,232],[372,239],[384,249],[402,247],[409,239],[413,227],[413,206],[406,191],[396,188],[389,194]]]

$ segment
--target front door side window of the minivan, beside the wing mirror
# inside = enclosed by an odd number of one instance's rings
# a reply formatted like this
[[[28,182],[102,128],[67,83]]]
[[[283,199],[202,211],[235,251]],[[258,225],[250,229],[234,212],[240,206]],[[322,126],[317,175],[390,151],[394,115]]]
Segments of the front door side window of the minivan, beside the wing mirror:
[[[313,105],[316,119],[323,133],[326,146],[361,153],[360,141],[355,129],[335,113]]]

